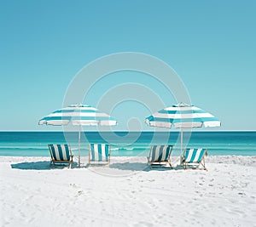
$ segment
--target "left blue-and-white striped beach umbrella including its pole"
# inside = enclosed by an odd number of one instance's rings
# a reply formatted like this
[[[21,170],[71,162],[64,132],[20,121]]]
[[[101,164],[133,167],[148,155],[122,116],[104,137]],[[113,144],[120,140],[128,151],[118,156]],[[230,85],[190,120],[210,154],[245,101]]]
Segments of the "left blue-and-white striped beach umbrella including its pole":
[[[81,125],[87,126],[113,126],[117,122],[113,117],[109,116],[102,111],[97,110],[95,107],[90,105],[69,105],[58,111],[54,111],[42,118],[38,124],[46,125],[67,125],[72,123],[73,125],[79,125],[79,166],[80,166],[80,130]]]

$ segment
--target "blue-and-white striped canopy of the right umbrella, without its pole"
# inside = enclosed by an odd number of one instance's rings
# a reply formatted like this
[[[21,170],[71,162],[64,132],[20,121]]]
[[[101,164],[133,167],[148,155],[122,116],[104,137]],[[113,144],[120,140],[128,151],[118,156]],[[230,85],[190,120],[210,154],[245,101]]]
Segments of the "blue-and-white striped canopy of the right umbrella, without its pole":
[[[220,122],[210,113],[194,105],[179,103],[172,105],[146,118],[149,126],[164,128],[218,127]]]

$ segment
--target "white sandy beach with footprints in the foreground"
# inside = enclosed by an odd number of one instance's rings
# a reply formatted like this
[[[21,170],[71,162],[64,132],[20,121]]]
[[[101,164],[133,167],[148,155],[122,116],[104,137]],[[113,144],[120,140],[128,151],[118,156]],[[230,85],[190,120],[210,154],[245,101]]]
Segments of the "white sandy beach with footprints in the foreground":
[[[145,157],[0,162],[1,226],[256,226],[256,156],[207,156],[208,171],[150,170]]]

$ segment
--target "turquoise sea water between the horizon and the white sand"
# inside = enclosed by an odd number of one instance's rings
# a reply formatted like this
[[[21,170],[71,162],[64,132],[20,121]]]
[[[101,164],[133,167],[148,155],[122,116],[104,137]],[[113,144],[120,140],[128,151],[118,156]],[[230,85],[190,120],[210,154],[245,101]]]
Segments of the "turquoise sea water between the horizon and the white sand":
[[[150,145],[173,145],[172,155],[184,147],[207,148],[208,155],[256,156],[256,132],[86,132],[81,133],[81,156],[89,144],[110,144],[111,156],[147,156]],[[0,132],[0,156],[49,156],[48,144],[69,144],[79,155],[77,132]]]

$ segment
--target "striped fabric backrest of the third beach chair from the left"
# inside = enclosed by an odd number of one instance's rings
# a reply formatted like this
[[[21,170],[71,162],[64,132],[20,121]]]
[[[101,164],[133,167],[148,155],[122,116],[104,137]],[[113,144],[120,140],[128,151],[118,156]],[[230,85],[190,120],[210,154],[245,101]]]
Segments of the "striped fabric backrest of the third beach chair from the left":
[[[172,152],[172,145],[152,145],[150,149],[150,162],[167,161]]]

